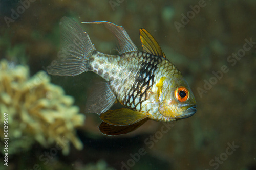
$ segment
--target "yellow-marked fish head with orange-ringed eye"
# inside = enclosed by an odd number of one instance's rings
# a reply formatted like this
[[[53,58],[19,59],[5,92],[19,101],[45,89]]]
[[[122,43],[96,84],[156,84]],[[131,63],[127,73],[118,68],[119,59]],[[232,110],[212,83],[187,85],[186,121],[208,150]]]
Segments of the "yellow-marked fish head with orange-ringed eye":
[[[161,80],[162,79],[162,80]],[[159,112],[165,120],[188,118],[197,111],[196,100],[183,76],[162,77],[158,90]]]

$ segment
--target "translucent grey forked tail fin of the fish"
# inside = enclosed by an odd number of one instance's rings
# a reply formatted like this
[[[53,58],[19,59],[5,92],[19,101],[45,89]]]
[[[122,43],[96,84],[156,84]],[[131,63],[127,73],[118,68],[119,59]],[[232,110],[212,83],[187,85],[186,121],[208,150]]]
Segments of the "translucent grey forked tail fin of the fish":
[[[62,47],[59,59],[53,61],[47,72],[58,76],[76,76],[89,71],[88,59],[95,51],[88,34],[73,20],[63,17],[60,20]]]

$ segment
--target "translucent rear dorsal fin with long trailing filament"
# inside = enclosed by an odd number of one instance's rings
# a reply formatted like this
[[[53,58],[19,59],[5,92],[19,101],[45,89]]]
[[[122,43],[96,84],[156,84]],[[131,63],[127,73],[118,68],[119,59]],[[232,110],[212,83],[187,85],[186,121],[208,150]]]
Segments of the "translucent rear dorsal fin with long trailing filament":
[[[119,42],[119,54],[127,53],[127,52],[136,52],[138,48],[135,46],[127,32],[124,30],[122,26],[117,26],[111,22],[82,22],[89,24],[104,24],[104,26],[109,29],[117,38]]]

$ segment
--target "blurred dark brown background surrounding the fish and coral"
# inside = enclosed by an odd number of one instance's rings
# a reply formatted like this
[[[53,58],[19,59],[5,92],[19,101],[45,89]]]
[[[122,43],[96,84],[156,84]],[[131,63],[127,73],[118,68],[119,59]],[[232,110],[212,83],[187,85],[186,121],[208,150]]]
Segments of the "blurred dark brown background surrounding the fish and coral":
[[[98,160],[115,169],[256,169],[256,1],[36,0],[24,12],[18,9],[21,5],[0,1],[1,59],[28,65],[31,76],[44,70],[57,57],[63,16],[123,26],[140,50],[143,27],[182,72],[198,106],[194,116],[174,122],[167,133],[161,132],[162,123],[150,121],[116,137],[102,135],[98,115],[85,113],[84,127],[78,129],[82,151],[73,148],[68,156],[59,153],[44,164],[38,157],[49,149],[34,145],[10,157],[7,169],[33,169],[35,163],[42,169],[82,169]],[[21,10],[16,19],[12,9]],[[116,53],[111,32],[100,25],[80,25],[97,50]],[[228,71],[220,73],[223,66]],[[101,78],[91,72],[52,76],[54,84],[74,96],[82,113],[87,91],[97,79]],[[232,144],[238,147],[228,149]],[[146,154],[133,158],[140,148]]]

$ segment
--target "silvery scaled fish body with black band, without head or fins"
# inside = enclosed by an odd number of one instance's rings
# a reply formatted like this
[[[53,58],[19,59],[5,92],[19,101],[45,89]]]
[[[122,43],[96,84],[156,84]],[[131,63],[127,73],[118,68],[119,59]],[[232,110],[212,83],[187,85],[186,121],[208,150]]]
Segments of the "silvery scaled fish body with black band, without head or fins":
[[[180,74],[180,71],[165,58],[143,52],[130,52],[120,56],[96,52],[89,61],[91,71],[109,81],[110,89],[117,100],[137,111],[141,111],[144,107],[142,105],[147,103],[147,92],[152,91],[159,78],[169,74]]]

